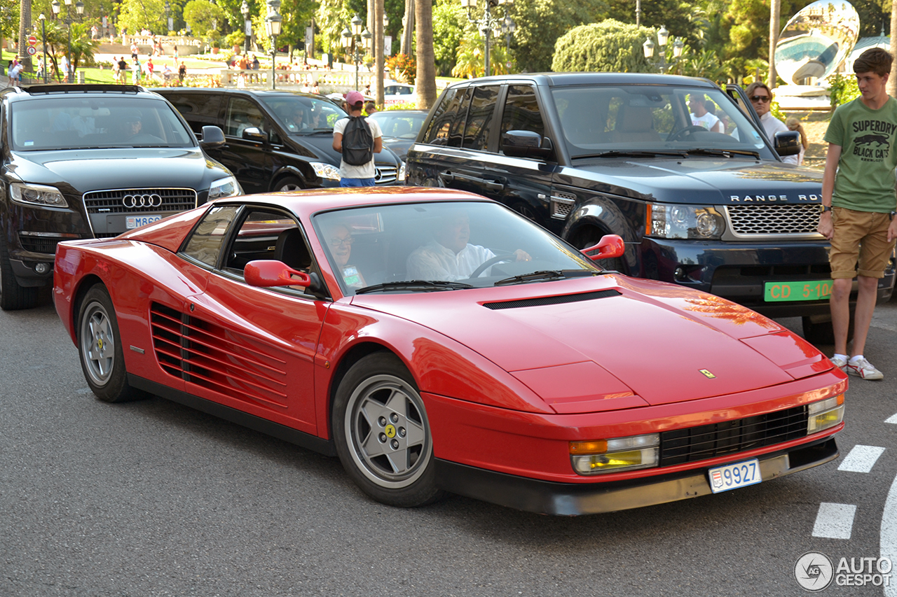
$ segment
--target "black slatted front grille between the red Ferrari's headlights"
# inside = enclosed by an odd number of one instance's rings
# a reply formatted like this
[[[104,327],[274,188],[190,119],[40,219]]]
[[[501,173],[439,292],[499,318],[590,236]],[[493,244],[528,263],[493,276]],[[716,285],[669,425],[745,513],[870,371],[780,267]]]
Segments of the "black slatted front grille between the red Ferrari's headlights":
[[[773,446],[806,436],[806,406],[660,434],[660,466]]]

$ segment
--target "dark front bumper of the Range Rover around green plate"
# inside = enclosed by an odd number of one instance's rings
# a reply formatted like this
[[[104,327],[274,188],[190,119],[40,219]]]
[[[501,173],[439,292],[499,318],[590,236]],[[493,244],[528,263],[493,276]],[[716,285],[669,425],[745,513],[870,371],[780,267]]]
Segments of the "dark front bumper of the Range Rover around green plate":
[[[830,313],[829,300],[766,302],[766,282],[831,279],[829,243],[821,240],[772,243],[643,238],[640,277],[710,292],[770,317]],[[893,258],[878,282],[878,300],[891,299]],[[856,299],[857,283],[851,293]]]

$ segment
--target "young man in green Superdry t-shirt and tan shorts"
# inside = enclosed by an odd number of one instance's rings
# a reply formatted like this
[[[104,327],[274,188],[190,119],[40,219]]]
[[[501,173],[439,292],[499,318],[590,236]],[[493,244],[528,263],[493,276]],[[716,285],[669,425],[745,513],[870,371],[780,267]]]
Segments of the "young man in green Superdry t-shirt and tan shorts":
[[[897,238],[897,100],[884,86],[893,56],[882,48],[863,52],[853,63],[860,97],[839,106],[825,133],[829,150],[823,176],[819,232],[832,241],[832,363],[863,379],[882,379],[863,356],[878,281],[884,277]],[[859,262],[859,270],[857,263]],[[850,289],[857,277],[853,346],[848,358]]]

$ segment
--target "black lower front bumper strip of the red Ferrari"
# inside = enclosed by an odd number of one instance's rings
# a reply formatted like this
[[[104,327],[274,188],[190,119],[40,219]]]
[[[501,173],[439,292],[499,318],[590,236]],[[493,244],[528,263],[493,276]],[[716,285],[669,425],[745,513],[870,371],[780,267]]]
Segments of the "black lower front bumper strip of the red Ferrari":
[[[759,457],[762,480],[828,463],[838,457],[833,437]],[[734,459],[737,463],[745,458]],[[440,488],[538,514],[575,516],[666,504],[712,493],[707,469],[596,484],[557,483],[436,460]]]

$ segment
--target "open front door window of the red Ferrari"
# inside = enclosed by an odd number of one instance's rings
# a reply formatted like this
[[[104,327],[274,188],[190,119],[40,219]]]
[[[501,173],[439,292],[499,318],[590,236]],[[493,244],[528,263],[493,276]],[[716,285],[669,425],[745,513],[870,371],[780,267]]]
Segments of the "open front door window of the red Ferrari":
[[[257,259],[274,259],[303,272],[312,266],[299,225],[291,216],[273,210],[248,212],[233,236],[223,269],[242,275],[246,264]],[[289,288],[304,291],[300,286]]]

